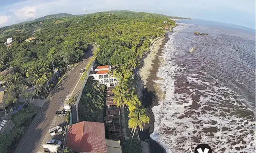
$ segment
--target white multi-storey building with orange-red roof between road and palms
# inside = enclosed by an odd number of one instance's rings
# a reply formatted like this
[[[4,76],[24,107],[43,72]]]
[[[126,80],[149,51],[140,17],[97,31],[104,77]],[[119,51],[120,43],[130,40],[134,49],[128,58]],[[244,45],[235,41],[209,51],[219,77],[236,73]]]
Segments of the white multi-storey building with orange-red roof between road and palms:
[[[107,87],[118,85],[116,78],[108,74],[109,70],[111,70],[110,65],[98,66],[96,69],[93,69],[93,66],[91,66],[90,70],[89,77],[93,78],[93,80],[98,80],[101,84],[104,84]]]

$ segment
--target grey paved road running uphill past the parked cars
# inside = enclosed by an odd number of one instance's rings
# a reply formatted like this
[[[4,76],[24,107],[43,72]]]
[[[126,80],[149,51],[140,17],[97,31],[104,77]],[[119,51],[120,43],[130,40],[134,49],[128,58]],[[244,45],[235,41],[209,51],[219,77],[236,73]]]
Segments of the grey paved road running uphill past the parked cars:
[[[55,117],[55,111],[62,106],[60,100],[64,101],[73,91],[81,77],[79,74],[80,69],[84,68],[85,62],[88,63],[92,55],[92,50],[88,51],[85,55],[85,61],[79,62],[55,87],[46,103],[33,119],[14,153],[36,153],[39,150],[44,137],[48,134],[48,129],[52,128],[50,126]]]

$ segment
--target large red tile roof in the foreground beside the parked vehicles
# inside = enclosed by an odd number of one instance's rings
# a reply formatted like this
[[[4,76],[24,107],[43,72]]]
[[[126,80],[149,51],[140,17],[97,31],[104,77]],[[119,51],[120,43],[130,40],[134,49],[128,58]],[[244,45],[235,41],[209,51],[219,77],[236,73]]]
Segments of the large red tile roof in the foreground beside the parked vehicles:
[[[67,146],[79,153],[107,153],[104,123],[73,124],[68,130]]]

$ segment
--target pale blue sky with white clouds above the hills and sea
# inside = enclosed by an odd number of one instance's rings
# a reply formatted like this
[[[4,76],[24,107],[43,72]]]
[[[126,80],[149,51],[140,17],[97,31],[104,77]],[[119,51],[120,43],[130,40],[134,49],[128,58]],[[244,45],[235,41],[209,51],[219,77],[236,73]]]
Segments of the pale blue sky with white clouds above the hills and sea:
[[[255,0],[0,0],[0,27],[56,13],[133,10],[255,29]]]

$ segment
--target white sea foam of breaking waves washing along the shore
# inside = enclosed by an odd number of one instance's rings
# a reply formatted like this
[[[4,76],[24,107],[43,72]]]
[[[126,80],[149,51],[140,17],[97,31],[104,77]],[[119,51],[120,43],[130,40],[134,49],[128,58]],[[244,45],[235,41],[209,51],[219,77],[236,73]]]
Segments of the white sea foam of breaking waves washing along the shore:
[[[187,83],[205,89],[189,88],[187,93],[175,92],[178,88],[175,87],[175,77],[186,68],[173,60],[179,52],[174,45],[174,37],[181,28],[178,26],[174,30],[176,32],[169,36],[170,40],[163,50],[164,65],[157,73],[162,80],[155,80],[162,84],[162,91],[166,93],[165,99],[152,108],[155,128],[150,137],[167,153],[193,153],[201,143],[209,144],[214,153],[254,153],[252,133],[255,124],[239,112],[250,110],[237,93],[219,84],[216,78],[207,82],[205,76],[199,74],[183,74],[183,77],[186,77]],[[202,74],[206,75],[205,72]],[[193,104],[193,95],[199,95],[196,108],[189,107]]]

